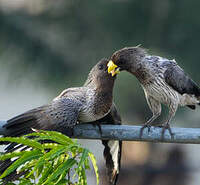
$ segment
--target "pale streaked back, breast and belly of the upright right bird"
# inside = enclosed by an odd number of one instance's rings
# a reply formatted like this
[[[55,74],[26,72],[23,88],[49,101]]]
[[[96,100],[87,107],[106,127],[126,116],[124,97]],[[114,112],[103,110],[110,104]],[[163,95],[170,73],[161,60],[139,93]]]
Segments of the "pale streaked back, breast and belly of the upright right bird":
[[[185,106],[199,103],[194,95],[181,94],[181,92],[176,91],[166,82],[165,72],[169,68],[177,66],[175,60],[147,55],[143,58],[140,65],[142,70],[146,72],[143,78],[140,79],[140,82],[148,96],[173,109],[176,109],[178,105]]]

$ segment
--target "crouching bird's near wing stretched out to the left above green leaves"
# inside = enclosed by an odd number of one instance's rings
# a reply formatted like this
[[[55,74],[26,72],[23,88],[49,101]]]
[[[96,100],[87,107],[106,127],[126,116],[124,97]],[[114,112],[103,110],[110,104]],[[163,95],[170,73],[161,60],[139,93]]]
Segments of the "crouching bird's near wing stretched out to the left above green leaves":
[[[34,129],[55,130],[65,133],[68,127],[77,123],[80,102],[60,98],[49,105],[44,105],[7,121],[3,127],[4,136],[21,136]]]

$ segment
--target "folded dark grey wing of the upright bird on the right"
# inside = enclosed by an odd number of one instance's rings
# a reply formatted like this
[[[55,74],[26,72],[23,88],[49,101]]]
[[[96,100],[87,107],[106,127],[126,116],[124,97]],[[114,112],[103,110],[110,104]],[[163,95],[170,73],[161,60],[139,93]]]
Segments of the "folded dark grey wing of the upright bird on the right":
[[[165,82],[180,94],[200,97],[198,85],[178,65],[172,64],[164,72]]]

